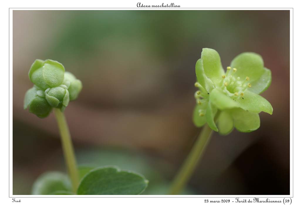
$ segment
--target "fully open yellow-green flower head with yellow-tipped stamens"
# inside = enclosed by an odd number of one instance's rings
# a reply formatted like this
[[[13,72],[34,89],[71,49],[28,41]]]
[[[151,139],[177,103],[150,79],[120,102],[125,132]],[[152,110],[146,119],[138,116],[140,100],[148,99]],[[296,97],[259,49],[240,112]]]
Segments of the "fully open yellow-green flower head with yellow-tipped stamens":
[[[195,92],[193,121],[197,127],[207,123],[220,134],[229,134],[234,127],[251,132],[260,126],[259,112],[273,113],[271,104],[259,95],[271,84],[271,71],[260,55],[242,53],[225,72],[218,52],[204,48],[195,71],[199,90]]]

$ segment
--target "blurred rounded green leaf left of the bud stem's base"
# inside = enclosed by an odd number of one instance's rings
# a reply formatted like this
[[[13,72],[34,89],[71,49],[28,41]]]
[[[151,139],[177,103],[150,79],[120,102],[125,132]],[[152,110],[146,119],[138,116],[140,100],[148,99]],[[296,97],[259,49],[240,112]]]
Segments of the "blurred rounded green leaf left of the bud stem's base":
[[[34,182],[32,194],[50,195],[55,191],[70,191],[71,183],[68,176],[61,172],[47,172],[40,175]]]

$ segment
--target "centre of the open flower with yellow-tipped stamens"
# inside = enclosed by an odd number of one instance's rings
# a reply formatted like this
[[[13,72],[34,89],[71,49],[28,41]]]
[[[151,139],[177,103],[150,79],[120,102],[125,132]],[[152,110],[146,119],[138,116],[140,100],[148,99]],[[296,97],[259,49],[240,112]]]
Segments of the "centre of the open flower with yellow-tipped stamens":
[[[230,93],[233,93],[234,96],[244,96],[244,91],[252,85],[248,82],[249,77],[246,76],[245,79],[240,79],[240,77],[234,77],[233,74],[236,73],[236,68],[231,68],[230,66],[226,68],[226,74],[222,75],[222,80],[220,86],[222,89],[226,87]]]

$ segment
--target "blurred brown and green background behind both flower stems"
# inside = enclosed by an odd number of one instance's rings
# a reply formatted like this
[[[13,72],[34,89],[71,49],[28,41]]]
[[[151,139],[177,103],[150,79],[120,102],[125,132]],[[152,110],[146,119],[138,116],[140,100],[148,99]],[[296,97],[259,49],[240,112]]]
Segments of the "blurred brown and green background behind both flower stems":
[[[79,164],[117,165],[165,194],[199,128],[192,123],[202,48],[226,69],[262,55],[272,84],[252,133],[214,133],[184,194],[290,194],[289,11],[13,11],[13,194],[43,172],[65,171],[53,113],[23,110],[35,59],[61,62],[83,83],[65,111]]]

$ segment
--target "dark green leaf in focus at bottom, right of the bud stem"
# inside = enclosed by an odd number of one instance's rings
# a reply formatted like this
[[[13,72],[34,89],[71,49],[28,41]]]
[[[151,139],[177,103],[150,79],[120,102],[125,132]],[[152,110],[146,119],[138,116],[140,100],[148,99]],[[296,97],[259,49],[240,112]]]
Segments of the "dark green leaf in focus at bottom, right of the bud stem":
[[[79,184],[79,195],[135,195],[148,184],[142,175],[121,171],[117,167],[96,168],[88,172]]]

